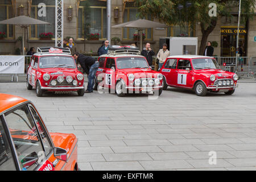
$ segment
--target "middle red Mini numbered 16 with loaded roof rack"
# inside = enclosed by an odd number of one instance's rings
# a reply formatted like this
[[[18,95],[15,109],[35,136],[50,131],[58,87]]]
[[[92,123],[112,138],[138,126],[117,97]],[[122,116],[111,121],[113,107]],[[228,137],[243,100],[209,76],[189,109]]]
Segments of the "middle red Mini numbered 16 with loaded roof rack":
[[[96,73],[94,89],[115,90],[117,96],[126,93],[162,94],[163,75],[152,71],[137,47],[112,46],[108,54],[98,58],[100,68]]]

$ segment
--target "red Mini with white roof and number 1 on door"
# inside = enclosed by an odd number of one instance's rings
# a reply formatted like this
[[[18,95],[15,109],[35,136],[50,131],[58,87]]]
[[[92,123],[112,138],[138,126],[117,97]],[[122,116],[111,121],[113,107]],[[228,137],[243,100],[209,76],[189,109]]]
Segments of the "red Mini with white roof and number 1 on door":
[[[231,95],[238,86],[236,73],[222,71],[213,57],[170,56],[159,72],[164,76],[164,90],[168,86],[194,89],[197,96],[205,96],[207,91]]]

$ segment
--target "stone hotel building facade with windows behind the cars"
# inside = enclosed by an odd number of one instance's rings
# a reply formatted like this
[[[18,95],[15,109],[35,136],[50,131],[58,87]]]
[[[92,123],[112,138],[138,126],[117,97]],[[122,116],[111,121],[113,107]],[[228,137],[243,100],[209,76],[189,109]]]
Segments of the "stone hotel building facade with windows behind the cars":
[[[83,53],[96,53],[103,40],[107,37],[107,3],[106,0],[64,0],[64,38],[72,37],[77,44],[77,51]],[[112,0],[112,26],[115,24],[138,19],[138,7],[134,0]],[[31,18],[40,19],[51,23],[50,25],[30,26],[26,31],[26,51],[30,47],[55,46],[54,37],[51,40],[41,40],[40,34],[52,32],[55,35],[55,1],[53,0],[0,0],[0,20],[13,18],[18,15],[28,15]],[[144,17],[152,20],[150,15]],[[256,18],[256,17],[255,17]],[[154,19],[155,20],[155,19]],[[156,20],[157,21],[157,20]],[[236,47],[236,19],[218,20],[214,31],[209,35],[209,41],[216,41],[218,46],[214,48],[214,55],[234,56]],[[256,19],[242,24],[240,44],[243,48],[243,56],[255,56]],[[151,43],[155,52],[159,50],[159,38],[167,36],[196,36],[201,39],[199,24],[190,28],[172,26],[169,28],[147,28],[144,30],[143,46]],[[19,54],[22,49],[22,28],[11,25],[0,25],[0,32],[5,32],[6,38],[0,40],[0,54]],[[96,35],[92,35],[96,34]],[[134,40],[138,34],[136,28],[111,28],[111,38],[119,38],[119,45],[139,43]],[[90,39],[90,36],[98,36],[99,39]],[[111,41],[114,44],[114,41]],[[170,48],[171,49],[171,48]]]

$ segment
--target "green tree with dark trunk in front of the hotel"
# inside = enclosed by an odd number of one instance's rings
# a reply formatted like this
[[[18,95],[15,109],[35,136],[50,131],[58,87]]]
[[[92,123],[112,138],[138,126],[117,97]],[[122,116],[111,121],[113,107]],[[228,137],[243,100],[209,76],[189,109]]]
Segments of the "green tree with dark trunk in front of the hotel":
[[[190,6],[186,3],[190,2]],[[151,14],[152,17],[158,18],[161,22],[171,25],[183,26],[190,23],[195,28],[196,23],[200,23],[202,39],[199,54],[204,52],[205,44],[209,34],[214,30],[217,20],[221,16],[232,16],[232,12],[238,13],[239,1],[231,0],[137,0],[139,7],[138,16],[143,17]],[[216,3],[217,16],[209,16],[209,4]],[[179,5],[183,5],[183,9],[179,9]],[[242,22],[253,17],[255,9],[255,0],[241,1]]]

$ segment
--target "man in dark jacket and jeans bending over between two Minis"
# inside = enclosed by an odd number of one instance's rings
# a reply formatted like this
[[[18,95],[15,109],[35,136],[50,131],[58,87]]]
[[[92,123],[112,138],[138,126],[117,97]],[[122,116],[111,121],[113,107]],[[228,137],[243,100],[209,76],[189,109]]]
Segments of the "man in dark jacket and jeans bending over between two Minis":
[[[85,73],[88,75],[88,86],[85,93],[93,92],[94,77],[98,67],[100,67],[100,64],[93,57],[82,55],[79,52],[76,52],[73,56],[76,60],[76,63],[79,63],[82,69],[84,69]]]

